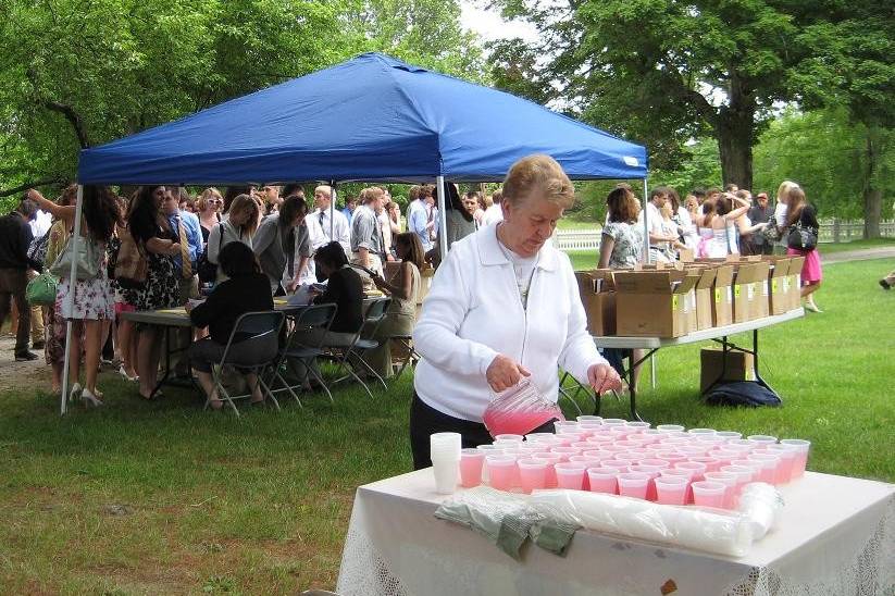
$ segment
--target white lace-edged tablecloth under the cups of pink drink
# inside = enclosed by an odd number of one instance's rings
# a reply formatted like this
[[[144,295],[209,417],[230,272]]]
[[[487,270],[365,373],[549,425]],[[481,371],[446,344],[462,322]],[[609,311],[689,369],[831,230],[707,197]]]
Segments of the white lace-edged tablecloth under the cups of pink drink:
[[[835,595],[895,591],[895,486],[808,472],[782,488],[780,529],[742,558],[579,531],[564,558],[515,561],[433,517],[432,470],[361,486],[345,541],[344,596],[672,594]],[[668,583],[669,580],[673,584]]]

